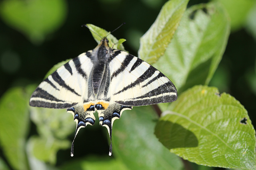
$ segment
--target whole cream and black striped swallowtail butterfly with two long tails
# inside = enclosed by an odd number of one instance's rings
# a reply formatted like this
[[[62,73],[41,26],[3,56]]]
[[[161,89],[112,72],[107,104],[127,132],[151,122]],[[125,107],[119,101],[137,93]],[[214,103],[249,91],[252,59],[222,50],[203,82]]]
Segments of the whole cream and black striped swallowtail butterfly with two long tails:
[[[174,84],[162,72],[138,57],[110,48],[104,37],[95,49],[80,54],[43,80],[29,104],[72,113],[74,140],[80,128],[94,125],[97,111],[100,125],[108,129],[111,156],[112,125],[124,110],[176,99]]]

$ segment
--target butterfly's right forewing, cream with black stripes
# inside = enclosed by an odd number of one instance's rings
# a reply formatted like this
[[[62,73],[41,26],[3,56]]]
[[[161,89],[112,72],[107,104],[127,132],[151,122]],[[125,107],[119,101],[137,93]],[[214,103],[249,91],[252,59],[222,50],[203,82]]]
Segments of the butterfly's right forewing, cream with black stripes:
[[[124,51],[110,59],[111,96],[124,106],[145,106],[177,99],[174,84],[162,72]]]

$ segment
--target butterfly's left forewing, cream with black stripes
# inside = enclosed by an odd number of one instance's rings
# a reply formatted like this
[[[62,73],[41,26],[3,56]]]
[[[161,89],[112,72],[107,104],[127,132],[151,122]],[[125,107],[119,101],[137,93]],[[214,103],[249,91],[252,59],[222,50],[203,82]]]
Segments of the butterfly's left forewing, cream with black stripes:
[[[91,51],[82,53],[48,76],[30,98],[30,106],[66,109],[88,98]]]

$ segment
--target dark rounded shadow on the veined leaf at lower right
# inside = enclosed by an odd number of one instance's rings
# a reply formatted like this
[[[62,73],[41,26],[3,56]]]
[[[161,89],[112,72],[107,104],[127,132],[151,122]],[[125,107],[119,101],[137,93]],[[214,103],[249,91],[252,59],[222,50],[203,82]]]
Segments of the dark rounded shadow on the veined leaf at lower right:
[[[198,140],[192,131],[170,121],[159,121],[155,128],[155,135],[168,149],[198,146]]]

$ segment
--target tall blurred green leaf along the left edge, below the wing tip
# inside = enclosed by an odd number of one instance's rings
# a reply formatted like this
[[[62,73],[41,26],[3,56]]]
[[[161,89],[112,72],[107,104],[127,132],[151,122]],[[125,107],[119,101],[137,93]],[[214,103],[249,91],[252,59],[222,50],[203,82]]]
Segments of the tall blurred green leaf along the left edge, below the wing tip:
[[[14,169],[26,170],[25,142],[29,127],[29,95],[21,87],[10,88],[0,99],[0,145]]]

